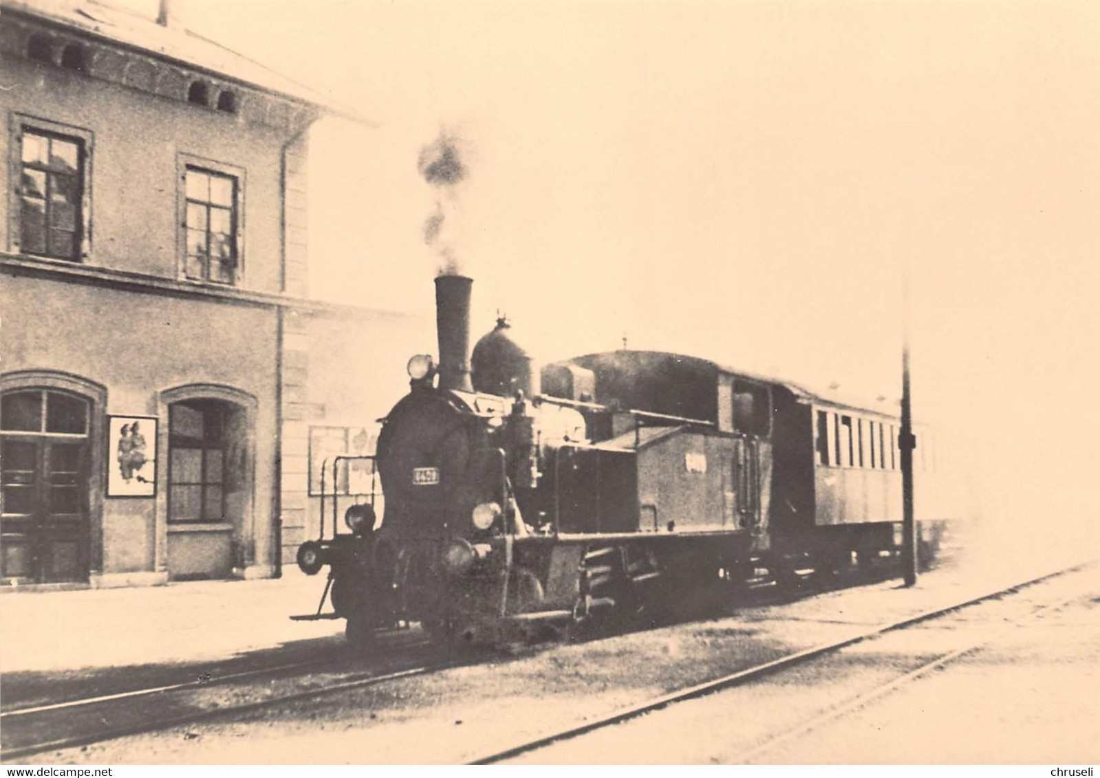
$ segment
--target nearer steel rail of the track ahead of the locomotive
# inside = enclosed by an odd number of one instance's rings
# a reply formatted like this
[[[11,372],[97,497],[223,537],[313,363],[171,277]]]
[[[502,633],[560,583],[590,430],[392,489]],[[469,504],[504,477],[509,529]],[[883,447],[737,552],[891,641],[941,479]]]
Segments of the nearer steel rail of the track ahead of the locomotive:
[[[70,737],[62,737],[54,741],[33,743],[25,746],[2,748],[0,749],[0,757],[2,757],[4,762],[10,764],[13,759],[24,756],[32,756],[34,754],[42,754],[50,751],[59,751],[62,748],[75,748],[78,746],[86,746],[94,743],[102,743],[119,737],[127,737],[130,735],[144,734],[146,732],[167,730],[169,727],[179,726],[183,724],[194,724],[202,721],[209,721],[211,719],[229,718],[240,713],[251,713],[252,711],[262,710],[265,708],[273,708],[287,702],[297,702],[299,700],[308,700],[317,697],[323,697],[326,694],[339,693],[341,691],[350,691],[353,689],[364,689],[366,687],[376,686],[378,683],[384,683],[391,680],[399,680],[402,678],[411,678],[414,676],[429,675],[431,673],[437,673],[439,670],[469,665],[475,660],[476,659],[474,658],[454,659],[454,660],[441,662],[433,665],[409,667],[403,670],[394,670],[392,673],[367,675],[365,677],[363,676],[352,677],[350,680],[343,680],[338,683],[316,687],[312,689],[304,689],[301,691],[295,691],[288,694],[278,694],[275,697],[265,698],[263,700],[253,700],[252,702],[244,702],[235,705],[210,708],[208,710],[196,711],[183,715],[143,721],[141,723],[119,726],[112,730],[102,730],[95,733],[73,735]],[[195,688],[195,687],[188,687],[188,688]]]

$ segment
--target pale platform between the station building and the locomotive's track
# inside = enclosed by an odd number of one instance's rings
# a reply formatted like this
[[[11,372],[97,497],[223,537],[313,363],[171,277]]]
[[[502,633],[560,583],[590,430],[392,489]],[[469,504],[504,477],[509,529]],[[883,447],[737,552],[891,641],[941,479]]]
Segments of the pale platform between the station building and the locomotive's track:
[[[13,591],[0,598],[0,674],[220,660],[337,636],[317,610],[324,575],[129,589]],[[340,638],[342,640],[342,638]]]

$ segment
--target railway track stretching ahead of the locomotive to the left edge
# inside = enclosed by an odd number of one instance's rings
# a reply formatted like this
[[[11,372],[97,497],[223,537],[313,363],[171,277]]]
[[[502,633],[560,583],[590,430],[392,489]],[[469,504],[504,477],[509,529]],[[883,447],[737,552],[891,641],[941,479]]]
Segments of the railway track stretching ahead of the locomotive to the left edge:
[[[438,657],[435,655],[438,654],[436,645],[430,641],[407,644],[402,648],[404,652],[427,649],[427,656],[416,657],[417,662],[405,662],[396,668],[350,673],[341,668],[341,664],[346,663],[334,659],[300,662],[205,680],[131,689],[6,711],[0,714],[4,740],[0,747],[0,758],[10,764],[45,752],[232,718],[288,702],[428,675],[479,660],[475,655],[466,655],[461,659]],[[425,659],[428,662],[424,662]],[[393,665],[392,662],[388,664]],[[317,681],[314,674],[321,674],[326,668],[329,669],[323,675],[330,678]],[[296,673],[302,675],[295,676]],[[267,683],[257,683],[263,680]],[[234,685],[239,686],[234,688]],[[220,699],[213,699],[213,690],[218,688],[223,692],[222,699],[248,699],[224,704]],[[136,710],[133,703],[142,700],[152,702],[155,707],[144,705]],[[48,740],[42,738],[44,733],[50,735]]]

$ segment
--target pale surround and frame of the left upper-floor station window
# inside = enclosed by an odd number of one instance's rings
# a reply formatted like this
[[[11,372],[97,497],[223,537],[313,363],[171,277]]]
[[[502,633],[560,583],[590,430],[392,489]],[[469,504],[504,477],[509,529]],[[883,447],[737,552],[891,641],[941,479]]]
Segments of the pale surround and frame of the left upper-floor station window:
[[[79,233],[79,242],[76,255],[73,257],[57,257],[50,254],[31,254],[23,251],[23,134],[25,131],[35,134],[59,136],[63,140],[77,142],[80,147],[80,169],[78,178],[80,180],[80,212],[77,214],[76,227]],[[95,133],[91,130],[62,124],[48,119],[32,116],[25,113],[12,112],[8,127],[9,137],[9,159],[8,159],[8,251],[13,254],[33,257],[44,262],[63,262],[68,264],[90,264],[92,251],[92,167],[95,162]],[[46,227],[48,231],[48,226]],[[48,237],[47,244],[48,248]]]

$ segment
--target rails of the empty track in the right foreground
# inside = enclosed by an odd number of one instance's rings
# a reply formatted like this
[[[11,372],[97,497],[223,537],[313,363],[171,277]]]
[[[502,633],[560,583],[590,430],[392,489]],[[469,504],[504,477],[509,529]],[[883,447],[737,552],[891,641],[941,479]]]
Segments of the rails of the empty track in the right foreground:
[[[871,629],[861,631],[855,635],[850,635],[842,640],[813,646],[811,648],[795,652],[793,654],[789,654],[787,656],[782,656],[777,659],[772,659],[770,662],[756,665],[754,667],[741,669],[736,673],[730,673],[728,675],[724,675],[702,683],[697,683],[691,687],[686,687],[683,689],[661,694],[659,697],[644,700],[641,702],[628,705],[626,708],[613,711],[607,714],[597,715],[593,718],[585,718],[584,720],[575,724],[548,731],[539,735],[538,737],[515,743],[501,751],[485,754],[483,756],[480,756],[471,760],[469,764],[491,765],[491,764],[508,762],[510,759],[515,759],[526,754],[530,754],[532,752],[547,748],[554,744],[581,737],[590,733],[595,733],[600,730],[605,730],[616,724],[622,724],[638,719],[648,713],[670,708],[680,702],[694,700],[725,689],[730,689],[738,686],[746,686],[755,681],[758,681],[762,678],[766,678],[768,676],[779,674],[784,670],[790,670],[801,665],[806,665],[809,663],[812,663],[815,659],[821,659],[823,657],[836,654],[837,652],[840,652],[842,649],[847,648],[849,646],[854,646],[858,643],[862,643],[865,641],[869,641],[891,632],[897,632],[911,626],[915,626],[924,622],[933,621],[935,619],[946,616],[963,609],[978,605],[983,602],[996,600],[998,598],[1003,598],[1009,594],[1014,594],[1023,589],[1036,586],[1044,581],[1058,578],[1060,576],[1065,576],[1078,570],[1084,570],[1094,564],[1097,564],[1096,560],[1090,560],[1070,567],[1054,570],[1044,574],[1042,576],[1037,576],[1035,578],[1030,578],[1027,580],[1013,584],[1008,587],[1002,587],[999,589],[987,591],[977,597],[968,598],[966,600],[955,602],[946,607],[931,609],[917,613],[916,615],[906,616],[898,621],[880,624],[878,626],[873,626]],[[1063,608],[1067,602],[1068,600],[1059,601],[1049,605],[1044,605],[1043,608],[1034,611],[1034,613],[1058,610],[1059,608]],[[822,724],[832,721],[835,718],[844,715],[850,710],[865,705],[873,701],[875,699],[878,699],[879,697],[882,697],[908,682],[911,682],[913,680],[916,680],[917,678],[925,676],[926,674],[937,669],[938,667],[943,667],[956,659],[961,658],[963,656],[966,656],[979,649],[982,645],[989,642],[989,640],[991,640],[991,637],[986,636],[980,641],[972,642],[968,645],[956,648],[949,653],[942,654],[941,656],[937,656],[935,659],[926,662],[922,664],[920,667],[910,670],[909,673],[900,677],[897,677],[887,683],[876,687],[875,689],[871,689],[867,692],[857,694],[856,697],[848,699],[840,705],[831,708],[824,713],[814,716],[810,721],[801,723],[793,730],[790,730],[781,735],[772,737],[766,741],[765,743],[758,744],[751,749],[748,749],[743,754],[738,755],[737,759],[738,760],[750,759],[752,758],[754,755],[763,752],[768,748],[771,748],[781,742],[784,742],[792,737],[796,737],[800,734],[805,734],[806,732],[810,732],[813,729],[818,727]]]

